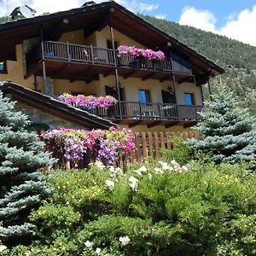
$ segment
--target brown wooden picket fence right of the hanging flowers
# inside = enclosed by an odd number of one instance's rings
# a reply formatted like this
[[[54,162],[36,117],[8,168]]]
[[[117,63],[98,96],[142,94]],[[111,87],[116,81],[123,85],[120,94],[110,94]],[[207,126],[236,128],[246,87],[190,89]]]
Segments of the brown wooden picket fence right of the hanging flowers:
[[[183,139],[201,138],[201,135],[194,131],[189,132],[137,132],[135,134],[135,143],[137,150],[131,154],[131,162],[140,162],[148,157],[160,159],[162,149],[172,149],[176,145],[173,142],[174,137]]]

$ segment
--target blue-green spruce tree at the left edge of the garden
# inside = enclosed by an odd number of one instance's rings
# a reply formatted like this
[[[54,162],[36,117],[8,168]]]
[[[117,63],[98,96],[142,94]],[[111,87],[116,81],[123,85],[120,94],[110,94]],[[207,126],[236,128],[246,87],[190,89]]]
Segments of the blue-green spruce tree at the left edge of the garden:
[[[55,160],[42,152],[38,136],[26,131],[29,123],[0,90],[0,240],[9,245],[29,238],[27,217],[51,192],[40,168]]]

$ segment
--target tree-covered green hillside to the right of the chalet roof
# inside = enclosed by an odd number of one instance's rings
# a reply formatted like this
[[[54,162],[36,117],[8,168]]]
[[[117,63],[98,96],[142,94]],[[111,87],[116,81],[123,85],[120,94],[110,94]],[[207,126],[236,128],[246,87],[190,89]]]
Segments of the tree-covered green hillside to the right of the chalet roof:
[[[213,86],[221,79],[256,113],[256,47],[168,20],[143,19],[224,67],[226,73],[212,79]]]

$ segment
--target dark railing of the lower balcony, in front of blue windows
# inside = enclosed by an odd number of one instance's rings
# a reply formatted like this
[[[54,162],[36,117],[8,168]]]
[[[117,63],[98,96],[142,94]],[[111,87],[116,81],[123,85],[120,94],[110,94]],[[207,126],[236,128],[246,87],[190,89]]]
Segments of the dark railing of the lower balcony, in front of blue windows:
[[[202,106],[169,103],[120,102],[112,108],[90,109],[90,113],[109,119],[201,120]]]

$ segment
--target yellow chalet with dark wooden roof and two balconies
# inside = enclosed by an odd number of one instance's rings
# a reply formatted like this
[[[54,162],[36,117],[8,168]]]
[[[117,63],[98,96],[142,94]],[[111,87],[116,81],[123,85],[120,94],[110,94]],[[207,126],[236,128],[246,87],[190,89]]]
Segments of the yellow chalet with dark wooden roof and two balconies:
[[[9,22],[0,36],[1,80],[52,97],[114,96],[113,108],[90,112],[133,131],[189,129],[201,120],[202,84],[224,72],[114,2]],[[122,45],[161,50],[165,59],[120,55]]]

